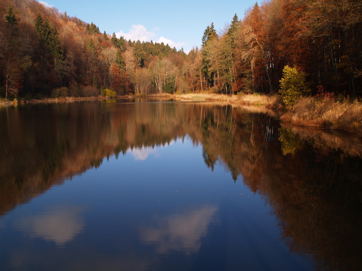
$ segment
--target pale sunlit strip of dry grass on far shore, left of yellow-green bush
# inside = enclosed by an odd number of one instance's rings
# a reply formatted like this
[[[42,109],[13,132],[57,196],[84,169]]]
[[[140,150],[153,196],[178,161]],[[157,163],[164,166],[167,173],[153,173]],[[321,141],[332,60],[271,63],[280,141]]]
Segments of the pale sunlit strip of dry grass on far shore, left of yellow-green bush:
[[[254,104],[266,106],[268,108],[281,109],[282,100],[277,95],[253,95],[253,94],[215,94],[209,92],[174,94],[174,98],[182,100],[208,100],[208,101],[228,101],[231,103]]]

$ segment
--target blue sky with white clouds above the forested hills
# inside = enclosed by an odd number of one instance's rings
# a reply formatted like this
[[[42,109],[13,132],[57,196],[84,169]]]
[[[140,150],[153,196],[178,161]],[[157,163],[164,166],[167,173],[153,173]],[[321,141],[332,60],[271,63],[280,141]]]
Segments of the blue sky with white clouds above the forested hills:
[[[244,16],[245,9],[255,0],[245,1],[39,1],[53,5],[69,16],[77,16],[95,23],[101,32],[113,32],[131,40],[169,43],[189,51],[200,47],[203,31],[214,22],[215,29],[223,29],[236,13]]]

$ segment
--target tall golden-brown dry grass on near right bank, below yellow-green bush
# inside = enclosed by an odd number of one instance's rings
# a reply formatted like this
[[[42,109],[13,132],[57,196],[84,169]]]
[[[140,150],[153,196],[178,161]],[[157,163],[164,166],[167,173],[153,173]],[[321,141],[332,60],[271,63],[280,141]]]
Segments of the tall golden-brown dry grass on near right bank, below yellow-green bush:
[[[362,103],[301,98],[281,121],[302,126],[345,130],[362,136]]]

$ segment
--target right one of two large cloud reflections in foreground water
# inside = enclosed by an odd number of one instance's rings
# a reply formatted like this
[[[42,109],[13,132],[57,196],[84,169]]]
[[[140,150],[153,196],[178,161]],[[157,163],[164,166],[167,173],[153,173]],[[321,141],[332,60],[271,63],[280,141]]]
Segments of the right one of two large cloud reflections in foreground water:
[[[140,232],[141,241],[156,243],[157,253],[183,251],[186,255],[196,252],[201,246],[201,237],[207,235],[207,227],[216,206],[206,205],[181,215],[157,219],[157,227],[146,227]]]

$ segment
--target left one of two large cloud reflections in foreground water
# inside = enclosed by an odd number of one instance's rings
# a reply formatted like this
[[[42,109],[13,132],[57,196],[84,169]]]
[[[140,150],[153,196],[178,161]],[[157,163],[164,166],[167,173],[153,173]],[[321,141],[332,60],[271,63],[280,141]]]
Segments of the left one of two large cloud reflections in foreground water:
[[[27,237],[40,237],[63,246],[83,231],[82,209],[81,206],[55,206],[41,214],[21,218],[14,226]]]

